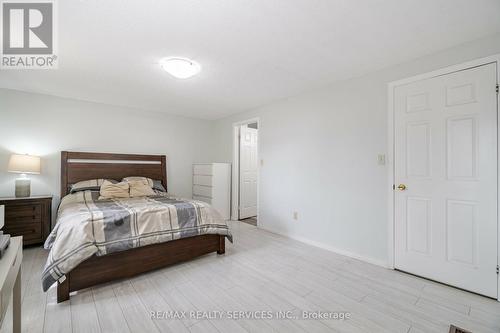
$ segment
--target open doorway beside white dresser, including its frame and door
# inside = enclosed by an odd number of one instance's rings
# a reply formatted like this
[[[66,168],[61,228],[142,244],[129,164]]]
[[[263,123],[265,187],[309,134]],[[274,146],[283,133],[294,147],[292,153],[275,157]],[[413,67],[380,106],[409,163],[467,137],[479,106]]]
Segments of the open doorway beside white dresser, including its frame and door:
[[[235,123],[232,219],[257,226],[259,121]]]

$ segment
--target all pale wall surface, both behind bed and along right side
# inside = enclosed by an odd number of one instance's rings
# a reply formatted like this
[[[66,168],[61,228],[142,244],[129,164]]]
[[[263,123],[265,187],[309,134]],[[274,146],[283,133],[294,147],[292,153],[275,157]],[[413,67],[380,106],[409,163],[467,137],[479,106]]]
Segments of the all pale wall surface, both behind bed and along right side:
[[[42,157],[33,194],[58,202],[61,150],[166,154],[169,190],[193,162],[232,162],[232,124],[259,117],[262,227],[375,263],[387,257],[387,83],[500,53],[500,35],[215,122],[0,89],[0,196],[12,152]],[[292,219],[298,211],[299,220]]]

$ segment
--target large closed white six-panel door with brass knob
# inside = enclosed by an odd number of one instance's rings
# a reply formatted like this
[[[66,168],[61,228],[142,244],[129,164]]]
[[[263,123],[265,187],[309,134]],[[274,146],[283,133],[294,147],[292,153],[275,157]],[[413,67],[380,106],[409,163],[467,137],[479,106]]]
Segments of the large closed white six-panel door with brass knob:
[[[395,267],[494,298],[496,84],[488,64],[394,89]]]

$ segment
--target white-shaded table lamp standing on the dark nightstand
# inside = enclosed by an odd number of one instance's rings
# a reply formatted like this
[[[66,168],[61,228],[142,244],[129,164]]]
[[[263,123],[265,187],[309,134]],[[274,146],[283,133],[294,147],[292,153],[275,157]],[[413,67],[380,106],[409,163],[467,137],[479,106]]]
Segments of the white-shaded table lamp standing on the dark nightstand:
[[[26,174],[40,174],[40,157],[31,155],[11,155],[8,172],[20,173],[16,179],[16,198],[31,195],[31,180]]]

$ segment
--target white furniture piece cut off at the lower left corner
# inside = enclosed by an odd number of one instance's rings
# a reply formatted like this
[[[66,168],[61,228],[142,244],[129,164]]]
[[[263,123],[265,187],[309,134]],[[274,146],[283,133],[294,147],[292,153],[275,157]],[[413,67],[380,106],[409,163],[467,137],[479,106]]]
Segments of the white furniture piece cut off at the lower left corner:
[[[0,259],[0,326],[12,297],[13,332],[21,332],[21,262],[23,238],[12,237],[10,245]]]

